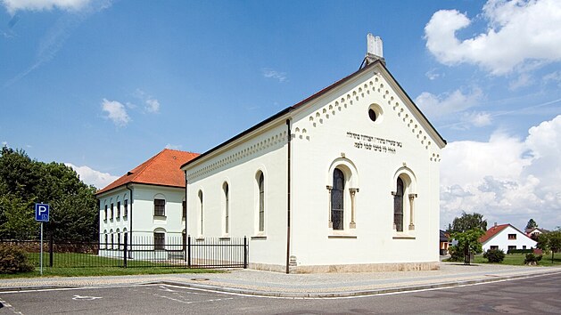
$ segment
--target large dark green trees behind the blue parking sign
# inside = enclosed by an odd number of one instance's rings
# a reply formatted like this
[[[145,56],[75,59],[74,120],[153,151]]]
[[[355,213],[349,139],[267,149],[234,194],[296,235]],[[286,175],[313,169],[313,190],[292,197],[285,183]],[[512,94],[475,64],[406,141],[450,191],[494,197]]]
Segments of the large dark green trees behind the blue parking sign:
[[[95,187],[81,182],[62,163],[32,160],[21,149],[4,146],[0,155],[0,238],[37,231],[36,202],[51,206],[46,234],[75,241],[98,238]],[[36,235],[38,233],[35,233]]]

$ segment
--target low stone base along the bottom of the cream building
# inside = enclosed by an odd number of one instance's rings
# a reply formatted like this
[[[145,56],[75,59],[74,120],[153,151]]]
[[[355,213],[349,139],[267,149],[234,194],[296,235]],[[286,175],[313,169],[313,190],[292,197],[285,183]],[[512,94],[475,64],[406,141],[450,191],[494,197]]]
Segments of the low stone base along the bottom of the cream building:
[[[268,263],[250,263],[250,269],[259,271],[286,272],[286,266]],[[384,271],[436,271],[439,262],[432,263],[358,263],[313,266],[290,266],[290,273],[344,273],[344,272],[384,272]]]

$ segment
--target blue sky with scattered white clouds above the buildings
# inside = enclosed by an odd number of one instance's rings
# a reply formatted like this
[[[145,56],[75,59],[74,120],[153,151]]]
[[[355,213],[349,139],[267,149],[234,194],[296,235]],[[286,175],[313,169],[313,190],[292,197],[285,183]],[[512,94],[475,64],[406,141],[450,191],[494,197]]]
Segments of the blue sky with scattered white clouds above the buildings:
[[[0,141],[103,187],[203,152],[359,68],[387,67],[449,141],[441,226],[561,225],[561,4],[0,0]]]

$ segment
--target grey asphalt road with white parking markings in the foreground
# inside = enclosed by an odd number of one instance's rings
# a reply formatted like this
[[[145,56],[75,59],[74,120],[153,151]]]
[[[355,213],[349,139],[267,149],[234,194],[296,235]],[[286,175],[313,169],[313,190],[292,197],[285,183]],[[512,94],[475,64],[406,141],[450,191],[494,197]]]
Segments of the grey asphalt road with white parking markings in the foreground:
[[[561,313],[561,274],[392,295],[284,299],[147,285],[0,292],[4,314]]]

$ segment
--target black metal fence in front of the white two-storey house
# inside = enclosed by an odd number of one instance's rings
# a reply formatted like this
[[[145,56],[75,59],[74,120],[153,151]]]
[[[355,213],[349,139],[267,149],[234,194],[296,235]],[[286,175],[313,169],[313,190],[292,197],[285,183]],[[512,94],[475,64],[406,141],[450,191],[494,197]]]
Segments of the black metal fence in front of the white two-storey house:
[[[40,262],[39,240],[4,239],[0,244],[20,246],[36,266]],[[247,268],[249,244],[243,238],[192,238],[123,235],[122,243],[64,242],[47,239],[43,265],[52,268],[79,267],[175,267]]]

